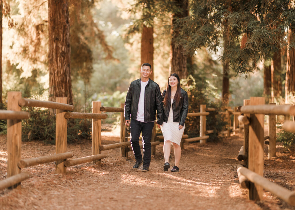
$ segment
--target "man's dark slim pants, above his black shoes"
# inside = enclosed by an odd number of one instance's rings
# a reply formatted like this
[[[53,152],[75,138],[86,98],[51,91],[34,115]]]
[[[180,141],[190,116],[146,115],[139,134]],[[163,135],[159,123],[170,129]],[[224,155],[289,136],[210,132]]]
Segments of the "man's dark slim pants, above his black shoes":
[[[152,132],[155,122],[140,122],[131,119],[130,122],[130,143],[136,161],[142,160],[142,155],[139,146],[139,136],[142,132],[142,145],[143,145],[143,166],[150,166]]]

